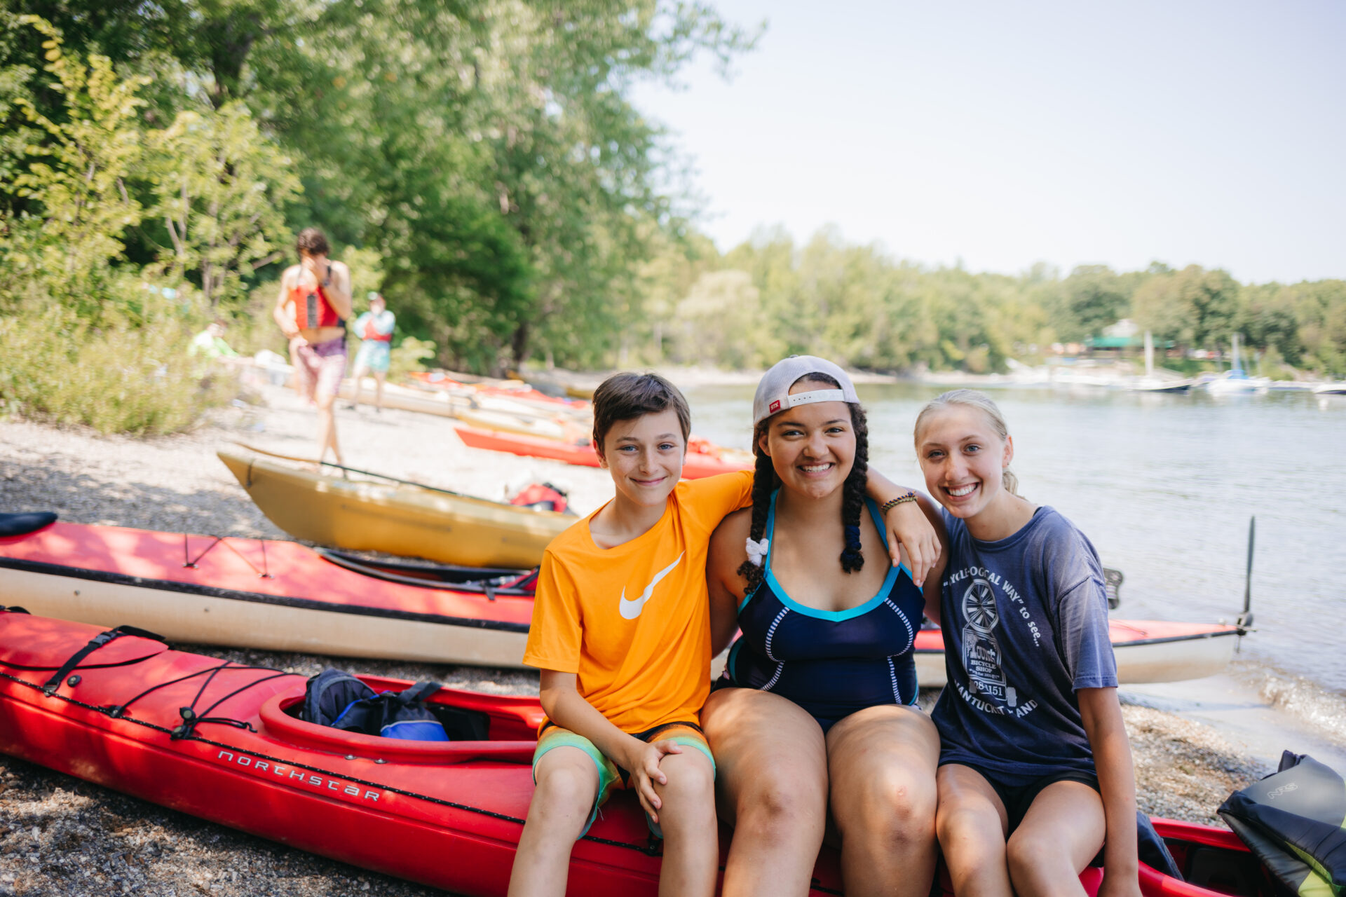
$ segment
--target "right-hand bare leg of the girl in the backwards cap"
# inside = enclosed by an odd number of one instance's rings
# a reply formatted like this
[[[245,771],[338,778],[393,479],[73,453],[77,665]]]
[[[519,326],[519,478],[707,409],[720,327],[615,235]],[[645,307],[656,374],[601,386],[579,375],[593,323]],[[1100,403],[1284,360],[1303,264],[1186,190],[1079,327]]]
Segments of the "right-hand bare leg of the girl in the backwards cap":
[[[911,707],[870,707],[832,726],[826,741],[845,893],[925,897],[937,855],[934,724]]]

